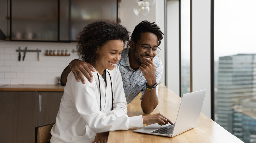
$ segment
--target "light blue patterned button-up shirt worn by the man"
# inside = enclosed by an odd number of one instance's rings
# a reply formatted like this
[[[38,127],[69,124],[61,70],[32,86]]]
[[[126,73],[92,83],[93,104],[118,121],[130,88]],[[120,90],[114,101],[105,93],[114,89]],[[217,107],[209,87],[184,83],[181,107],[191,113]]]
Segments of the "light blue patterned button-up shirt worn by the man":
[[[142,93],[142,97],[140,98],[142,100],[145,94],[147,80],[140,69],[135,71],[130,67],[128,53],[129,48],[124,49],[122,52],[122,58],[117,64],[119,65],[122,75],[126,102],[129,104],[140,92]],[[156,67],[156,82],[159,83],[163,72],[162,61],[159,58],[154,57],[154,64]],[[156,87],[156,93],[158,95],[158,86]]]

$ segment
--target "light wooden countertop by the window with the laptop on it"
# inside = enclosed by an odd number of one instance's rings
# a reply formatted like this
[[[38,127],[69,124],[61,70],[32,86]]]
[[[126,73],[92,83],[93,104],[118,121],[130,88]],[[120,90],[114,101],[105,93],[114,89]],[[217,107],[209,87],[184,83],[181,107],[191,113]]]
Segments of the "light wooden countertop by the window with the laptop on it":
[[[141,110],[141,93],[129,105],[127,115],[147,116]],[[168,119],[175,122],[181,97],[173,91],[160,84],[158,88],[159,103],[157,108],[151,113],[162,113]],[[145,125],[144,125],[145,126]],[[128,131],[110,131],[108,142],[110,143],[243,143],[236,136],[229,133],[216,122],[208,118],[203,113],[200,114],[197,126],[175,137],[165,137],[134,132],[137,128]]]

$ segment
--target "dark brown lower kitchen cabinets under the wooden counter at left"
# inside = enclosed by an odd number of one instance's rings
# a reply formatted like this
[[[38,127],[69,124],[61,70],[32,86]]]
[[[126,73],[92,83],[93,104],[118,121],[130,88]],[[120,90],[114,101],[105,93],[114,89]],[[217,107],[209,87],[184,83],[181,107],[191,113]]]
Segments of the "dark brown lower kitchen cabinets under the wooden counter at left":
[[[35,127],[54,123],[63,92],[0,91],[0,142],[34,142]]]

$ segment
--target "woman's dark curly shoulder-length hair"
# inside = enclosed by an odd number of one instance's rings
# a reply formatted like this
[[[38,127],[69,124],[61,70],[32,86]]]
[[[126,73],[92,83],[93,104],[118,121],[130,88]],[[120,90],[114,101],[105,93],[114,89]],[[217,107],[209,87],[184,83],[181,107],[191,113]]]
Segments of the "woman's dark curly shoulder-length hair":
[[[120,24],[101,20],[88,24],[78,33],[77,54],[80,60],[95,64],[98,48],[109,40],[129,42],[130,32]]]

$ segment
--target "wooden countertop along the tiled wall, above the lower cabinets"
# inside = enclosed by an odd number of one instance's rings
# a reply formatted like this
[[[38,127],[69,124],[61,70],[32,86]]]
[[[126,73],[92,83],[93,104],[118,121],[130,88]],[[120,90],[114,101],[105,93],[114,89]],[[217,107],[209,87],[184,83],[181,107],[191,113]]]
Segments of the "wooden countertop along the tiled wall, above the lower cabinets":
[[[0,87],[0,91],[53,91],[63,92],[60,85],[7,85]]]

